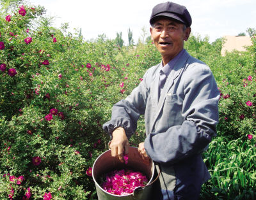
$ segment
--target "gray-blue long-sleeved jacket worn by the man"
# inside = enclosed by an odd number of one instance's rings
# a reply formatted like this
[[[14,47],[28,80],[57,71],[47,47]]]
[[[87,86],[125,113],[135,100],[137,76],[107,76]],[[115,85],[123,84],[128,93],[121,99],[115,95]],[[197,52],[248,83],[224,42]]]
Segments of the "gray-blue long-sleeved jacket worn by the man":
[[[216,136],[220,92],[211,69],[185,51],[159,97],[159,65],[148,69],[140,85],[113,106],[103,129],[111,134],[115,127],[124,127],[129,138],[145,115],[145,150],[166,171],[163,179],[172,176],[166,189],[179,182],[202,185],[210,175],[200,153]]]

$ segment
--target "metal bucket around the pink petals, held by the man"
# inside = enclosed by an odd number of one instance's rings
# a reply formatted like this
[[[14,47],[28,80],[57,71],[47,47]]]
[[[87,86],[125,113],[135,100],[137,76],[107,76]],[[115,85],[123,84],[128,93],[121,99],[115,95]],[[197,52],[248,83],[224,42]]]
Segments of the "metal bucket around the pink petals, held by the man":
[[[140,171],[144,173],[148,178],[147,185],[143,187],[138,187],[134,189],[133,193],[126,194],[124,196],[118,196],[116,194],[111,194],[102,189],[99,185],[100,177],[109,173],[113,170],[120,169],[131,169],[133,171]],[[152,192],[152,183],[155,171],[154,162],[150,161],[150,164],[145,164],[143,159],[138,152],[138,148],[129,146],[129,160],[128,164],[120,162],[116,157],[111,156],[111,150],[107,150],[101,154],[93,164],[92,168],[92,178],[95,182],[97,196],[99,200],[114,200],[114,199],[150,199]],[[157,177],[158,178],[158,177]],[[156,179],[157,179],[156,178]]]

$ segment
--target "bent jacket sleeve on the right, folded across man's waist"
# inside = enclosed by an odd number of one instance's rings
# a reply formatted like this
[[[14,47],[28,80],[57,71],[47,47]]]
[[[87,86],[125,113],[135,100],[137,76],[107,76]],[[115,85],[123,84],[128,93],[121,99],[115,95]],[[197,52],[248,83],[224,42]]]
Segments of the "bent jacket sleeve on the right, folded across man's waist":
[[[174,164],[200,154],[216,135],[220,92],[211,70],[205,66],[184,73],[181,82],[184,122],[169,127],[166,132],[152,132],[145,139],[147,154],[161,164]]]

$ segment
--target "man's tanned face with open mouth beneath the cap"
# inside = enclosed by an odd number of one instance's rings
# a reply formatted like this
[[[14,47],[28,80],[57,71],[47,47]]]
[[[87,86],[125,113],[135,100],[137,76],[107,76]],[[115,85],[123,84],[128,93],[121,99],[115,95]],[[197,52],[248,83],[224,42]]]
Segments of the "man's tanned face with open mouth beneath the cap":
[[[150,27],[152,41],[162,55],[164,65],[183,49],[184,41],[188,40],[190,32],[190,27],[184,29],[184,24],[172,18],[159,18],[153,27]]]

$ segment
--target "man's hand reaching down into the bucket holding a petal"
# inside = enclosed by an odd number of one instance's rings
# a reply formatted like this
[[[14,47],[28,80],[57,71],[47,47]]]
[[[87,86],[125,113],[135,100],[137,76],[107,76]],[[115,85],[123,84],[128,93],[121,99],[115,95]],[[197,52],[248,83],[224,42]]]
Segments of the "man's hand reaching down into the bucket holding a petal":
[[[118,127],[112,133],[112,141],[109,145],[111,155],[118,157],[121,162],[124,162],[124,154],[128,154],[129,141],[122,127]]]

